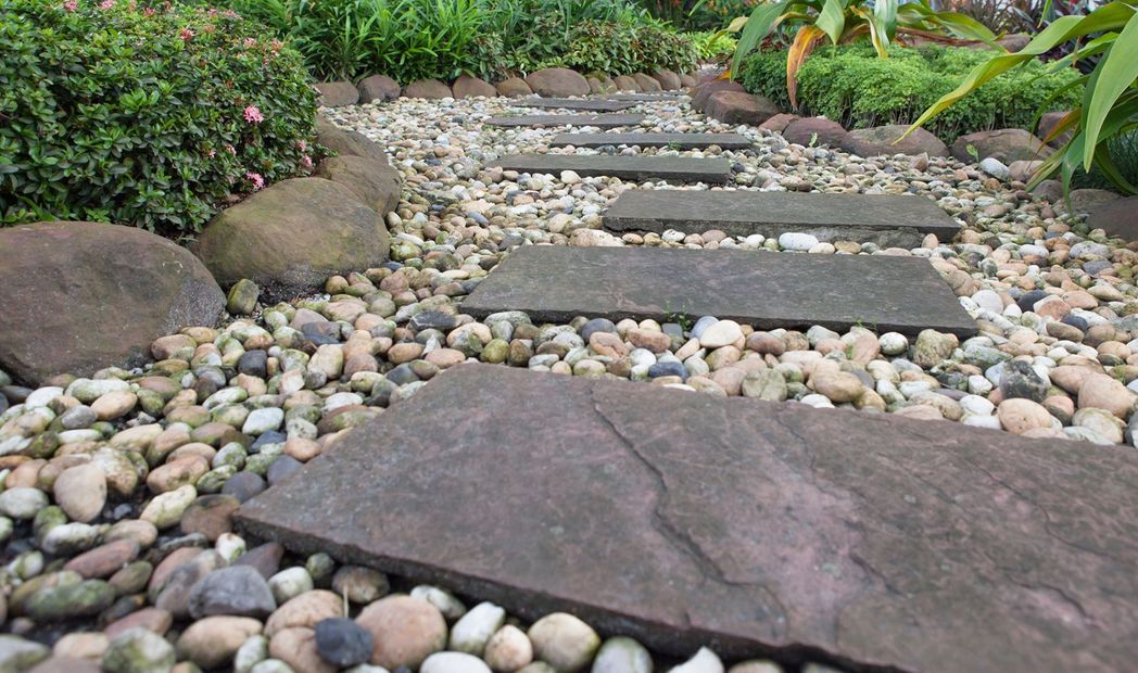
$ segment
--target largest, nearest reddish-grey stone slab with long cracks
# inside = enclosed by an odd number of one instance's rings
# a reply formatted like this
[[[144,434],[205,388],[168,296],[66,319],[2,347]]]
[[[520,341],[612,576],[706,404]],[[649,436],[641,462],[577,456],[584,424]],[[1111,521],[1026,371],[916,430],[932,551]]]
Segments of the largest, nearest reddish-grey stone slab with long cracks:
[[[461,365],[237,513],[308,554],[688,656],[1138,660],[1138,452]]]

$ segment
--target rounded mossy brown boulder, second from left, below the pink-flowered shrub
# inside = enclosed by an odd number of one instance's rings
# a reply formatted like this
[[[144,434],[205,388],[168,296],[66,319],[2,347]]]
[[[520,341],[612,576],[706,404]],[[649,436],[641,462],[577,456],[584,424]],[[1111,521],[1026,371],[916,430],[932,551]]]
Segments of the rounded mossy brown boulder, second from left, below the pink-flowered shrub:
[[[198,238],[197,254],[223,285],[249,279],[277,301],[329,275],[387,261],[384,218],[347,186],[295,177],[223,211]]]

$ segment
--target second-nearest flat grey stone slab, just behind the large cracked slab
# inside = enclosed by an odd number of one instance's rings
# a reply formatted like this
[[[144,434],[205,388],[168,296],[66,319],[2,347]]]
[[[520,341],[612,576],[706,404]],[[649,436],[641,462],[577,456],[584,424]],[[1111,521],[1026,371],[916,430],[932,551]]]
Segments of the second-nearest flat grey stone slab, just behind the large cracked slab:
[[[976,333],[927,259],[885,255],[526,246],[490,272],[462,310],[476,317],[525,310],[549,322],[663,322],[686,314],[761,330],[864,325],[905,334],[926,327]]]

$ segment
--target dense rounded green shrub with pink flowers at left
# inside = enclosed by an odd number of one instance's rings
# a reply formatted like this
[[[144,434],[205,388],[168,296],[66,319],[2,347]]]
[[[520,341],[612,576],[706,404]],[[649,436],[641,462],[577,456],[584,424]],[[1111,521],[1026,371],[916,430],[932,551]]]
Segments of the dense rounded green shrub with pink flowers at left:
[[[0,214],[172,235],[306,171],[299,57],[232,13],[124,0],[0,5]]]

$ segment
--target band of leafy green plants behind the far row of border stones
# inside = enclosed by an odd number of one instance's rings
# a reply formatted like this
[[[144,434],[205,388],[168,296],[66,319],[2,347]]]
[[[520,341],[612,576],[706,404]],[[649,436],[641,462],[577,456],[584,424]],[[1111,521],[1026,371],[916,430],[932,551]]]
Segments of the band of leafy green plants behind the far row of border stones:
[[[320,80],[486,80],[543,67],[690,69],[691,42],[626,0],[223,0],[295,45]]]

